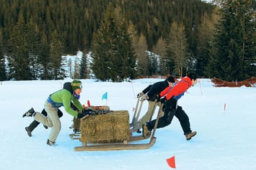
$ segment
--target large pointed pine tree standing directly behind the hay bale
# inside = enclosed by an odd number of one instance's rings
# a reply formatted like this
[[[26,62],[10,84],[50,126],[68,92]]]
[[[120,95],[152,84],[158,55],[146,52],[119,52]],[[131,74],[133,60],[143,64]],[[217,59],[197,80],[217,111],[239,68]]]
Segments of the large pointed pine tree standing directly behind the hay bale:
[[[118,18],[112,4],[107,6],[93,40],[92,70],[98,79],[118,82],[135,77],[136,57],[128,24],[122,17]]]

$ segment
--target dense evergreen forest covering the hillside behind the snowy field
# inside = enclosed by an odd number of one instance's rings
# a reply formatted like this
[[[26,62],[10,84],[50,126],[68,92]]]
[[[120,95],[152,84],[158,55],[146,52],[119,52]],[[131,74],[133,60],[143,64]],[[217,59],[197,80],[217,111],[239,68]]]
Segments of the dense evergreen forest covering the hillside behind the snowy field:
[[[0,80],[256,75],[255,0],[0,0]],[[89,55],[88,55],[89,54]],[[92,63],[89,63],[92,62]],[[77,72],[77,70],[76,70]]]

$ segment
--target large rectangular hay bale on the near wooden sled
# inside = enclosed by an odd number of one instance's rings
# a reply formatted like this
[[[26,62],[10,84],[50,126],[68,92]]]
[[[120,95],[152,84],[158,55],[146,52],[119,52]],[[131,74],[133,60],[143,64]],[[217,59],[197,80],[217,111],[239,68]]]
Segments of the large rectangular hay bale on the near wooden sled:
[[[112,111],[105,115],[90,115],[80,123],[81,142],[115,143],[127,141],[130,134],[127,110]]]

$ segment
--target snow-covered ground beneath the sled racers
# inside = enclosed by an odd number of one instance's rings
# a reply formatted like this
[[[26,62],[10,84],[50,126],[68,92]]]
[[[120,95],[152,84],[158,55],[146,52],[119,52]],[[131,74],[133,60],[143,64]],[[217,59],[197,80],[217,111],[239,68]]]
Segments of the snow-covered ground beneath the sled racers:
[[[94,82],[82,80],[81,103],[109,105],[111,110],[128,110],[133,116],[136,94],[160,79],[133,82]],[[71,140],[72,117],[65,113],[56,146],[46,145],[49,129],[42,125],[28,137],[25,126],[32,118],[22,118],[31,107],[42,110],[50,93],[62,88],[63,82],[4,81],[0,84],[0,165],[1,169],[171,169],[166,159],[175,156],[176,169],[256,169],[256,88],[214,88],[203,79],[190,88],[179,105],[190,117],[198,134],[185,140],[177,118],[156,131],[156,143],[146,150],[74,151],[81,146]],[[107,100],[102,95],[107,92]],[[226,107],[225,107],[226,106]],[[146,113],[147,103],[142,109]],[[148,142],[145,140],[145,143]]]

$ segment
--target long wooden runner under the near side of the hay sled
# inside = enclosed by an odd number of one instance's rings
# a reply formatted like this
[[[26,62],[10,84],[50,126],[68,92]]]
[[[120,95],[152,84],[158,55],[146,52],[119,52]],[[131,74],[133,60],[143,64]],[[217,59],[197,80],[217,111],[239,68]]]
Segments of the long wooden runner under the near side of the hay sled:
[[[145,138],[144,138],[145,139]],[[90,144],[83,143],[83,146],[76,146],[75,151],[118,151],[118,150],[137,150],[146,149],[156,143],[156,138],[153,137],[149,143],[128,143],[128,141],[123,141],[123,143],[98,143]]]

